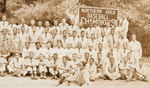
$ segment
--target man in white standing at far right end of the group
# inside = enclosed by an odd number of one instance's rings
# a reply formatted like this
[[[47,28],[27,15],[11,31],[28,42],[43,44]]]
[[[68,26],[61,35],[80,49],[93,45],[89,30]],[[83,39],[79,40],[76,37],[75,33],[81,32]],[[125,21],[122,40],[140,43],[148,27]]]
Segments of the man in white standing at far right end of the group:
[[[142,47],[141,43],[136,40],[135,34],[132,34],[132,41],[129,43],[129,45],[135,64],[139,64],[139,60],[142,58]]]

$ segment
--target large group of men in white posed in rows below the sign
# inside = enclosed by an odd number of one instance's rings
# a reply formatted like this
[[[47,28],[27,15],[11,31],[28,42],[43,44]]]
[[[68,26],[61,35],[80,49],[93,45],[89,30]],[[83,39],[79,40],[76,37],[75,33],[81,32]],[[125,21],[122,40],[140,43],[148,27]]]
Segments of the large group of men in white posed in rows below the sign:
[[[142,47],[132,34],[127,39],[129,22],[123,16],[120,23],[104,27],[83,28],[54,21],[31,20],[27,25],[9,24],[4,15],[0,21],[0,75],[31,76],[32,79],[59,79],[78,85],[96,79],[146,80],[140,63]]]

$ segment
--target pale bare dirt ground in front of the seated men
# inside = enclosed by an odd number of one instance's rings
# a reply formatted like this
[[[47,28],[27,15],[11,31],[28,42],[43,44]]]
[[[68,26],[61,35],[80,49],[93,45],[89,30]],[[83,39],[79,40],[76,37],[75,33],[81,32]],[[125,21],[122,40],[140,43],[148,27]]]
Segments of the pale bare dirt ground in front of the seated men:
[[[150,78],[150,64],[145,63],[146,74]],[[99,79],[95,82],[92,82],[89,86],[78,86],[76,84],[71,84],[67,86],[66,83],[63,83],[60,86],[56,87],[57,80],[51,79],[38,79],[31,80],[28,77],[16,78],[12,76],[0,77],[0,88],[150,88],[150,82],[143,81],[132,81],[126,82],[125,80],[102,80]]]

